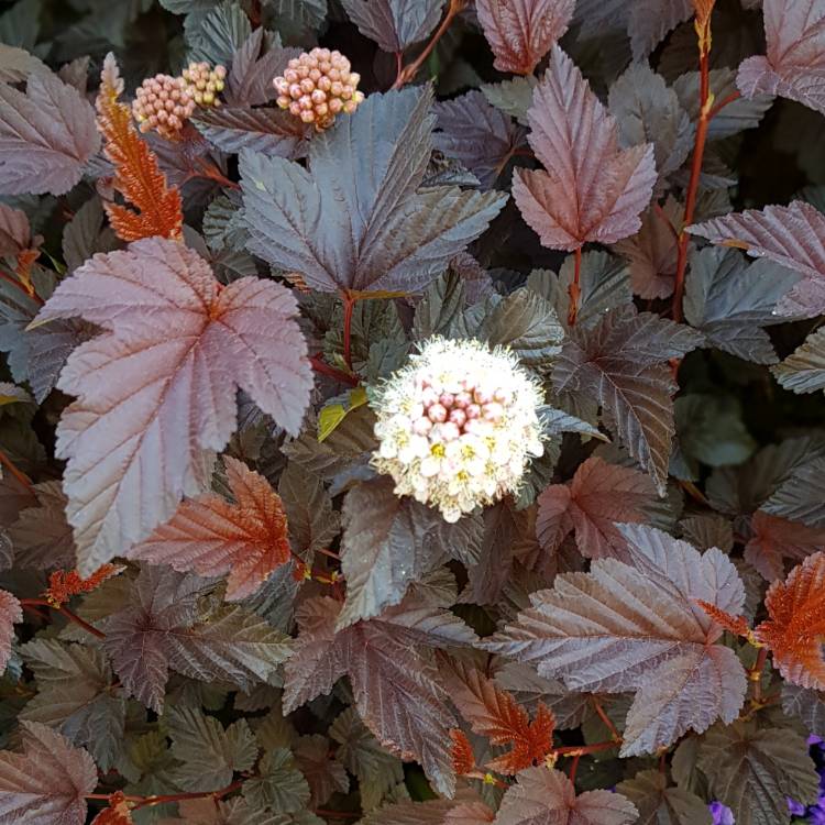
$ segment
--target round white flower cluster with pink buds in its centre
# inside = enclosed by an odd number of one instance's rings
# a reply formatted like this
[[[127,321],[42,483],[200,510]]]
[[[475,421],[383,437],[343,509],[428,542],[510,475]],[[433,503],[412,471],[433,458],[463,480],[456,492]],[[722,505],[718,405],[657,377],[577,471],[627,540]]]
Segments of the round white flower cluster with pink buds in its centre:
[[[373,465],[447,521],[518,488],[541,455],[539,384],[501,346],[431,338],[377,392]]]

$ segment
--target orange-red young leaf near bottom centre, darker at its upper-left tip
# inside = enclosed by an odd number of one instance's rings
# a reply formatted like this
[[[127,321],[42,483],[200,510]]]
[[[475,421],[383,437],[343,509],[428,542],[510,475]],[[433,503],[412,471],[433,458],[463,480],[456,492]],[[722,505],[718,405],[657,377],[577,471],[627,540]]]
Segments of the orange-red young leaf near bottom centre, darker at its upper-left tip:
[[[515,774],[540,762],[552,750],[556,718],[542,703],[531,723],[513,694],[497,688],[480,671],[460,662],[451,670],[448,676],[451,697],[473,730],[486,736],[493,745],[512,747],[488,762],[488,768]]]

